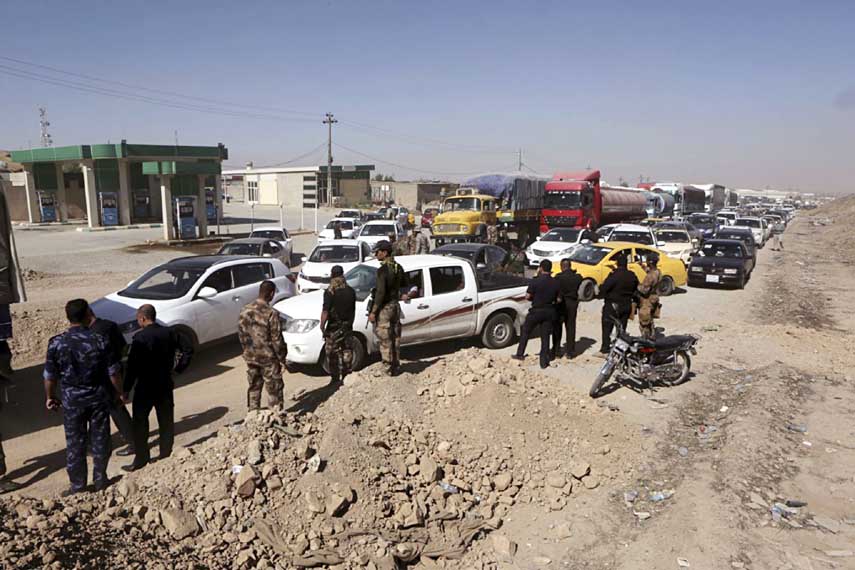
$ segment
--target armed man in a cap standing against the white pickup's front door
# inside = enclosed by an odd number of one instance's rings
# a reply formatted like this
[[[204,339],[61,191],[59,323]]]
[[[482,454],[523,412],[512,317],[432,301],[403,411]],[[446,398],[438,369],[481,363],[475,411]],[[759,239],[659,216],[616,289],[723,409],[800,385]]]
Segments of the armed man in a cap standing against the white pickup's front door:
[[[380,262],[377,268],[377,287],[368,321],[374,324],[374,331],[380,345],[380,356],[387,376],[394,376],[401,366],[401,289],[406,286],[404,269],[392,256],[392,244],[381,241],[374,247],[374,255]]]

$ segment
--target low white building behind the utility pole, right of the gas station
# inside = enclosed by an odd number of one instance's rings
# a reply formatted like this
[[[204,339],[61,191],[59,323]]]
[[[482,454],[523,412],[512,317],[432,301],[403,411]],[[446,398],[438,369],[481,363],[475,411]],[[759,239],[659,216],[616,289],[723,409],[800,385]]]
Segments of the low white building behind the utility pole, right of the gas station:
[[[332,167],[334,207],[366,205],[371,201],[372,164]],[[294,166],[224,170],[223,186],[232,200],[314,209],[328,203],[327,167]]]

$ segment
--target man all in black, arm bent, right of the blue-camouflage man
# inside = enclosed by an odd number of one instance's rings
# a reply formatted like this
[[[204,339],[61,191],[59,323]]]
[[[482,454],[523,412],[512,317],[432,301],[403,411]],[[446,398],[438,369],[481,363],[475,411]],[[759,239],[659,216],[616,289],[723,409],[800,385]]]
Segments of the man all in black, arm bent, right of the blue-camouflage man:
[[[157,312],[152,305],[142,305],[137,309],[137,324],[141,330],[131,342],[123,396],[127,400],[131,390],[136,388],[133,403],[136,456],[127,471],[142,469],[151,460],[148,417],[152,408],[157,415],[160,459],[172,454],[175,441],[175,400],[172,395],[175,383],[172,372],[183,372],[193,356],[189,342],[174,329],[157,323]]]

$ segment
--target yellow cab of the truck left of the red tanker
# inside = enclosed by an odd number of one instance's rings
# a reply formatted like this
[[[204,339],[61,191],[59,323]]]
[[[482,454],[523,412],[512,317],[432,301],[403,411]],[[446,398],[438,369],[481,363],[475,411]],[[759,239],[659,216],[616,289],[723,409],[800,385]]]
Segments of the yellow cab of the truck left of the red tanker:
[[[437,247],[446,243],[486,242],[487,226],[496,225],[496,199],[475,188],[459,188],[442,202],[431,225]]]

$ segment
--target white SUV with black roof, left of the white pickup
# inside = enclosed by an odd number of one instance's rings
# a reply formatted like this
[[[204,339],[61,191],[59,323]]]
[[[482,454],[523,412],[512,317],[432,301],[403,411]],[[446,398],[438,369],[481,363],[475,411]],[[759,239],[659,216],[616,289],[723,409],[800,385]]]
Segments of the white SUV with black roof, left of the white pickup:
[[[130,343],[139,330],[136,310],[146,303],[157,322],[171,326],[193,346],[237,333],[241,309],[258,298],[265,279],[276,284],[274,302],[296,294],[296,275],[277,259],[198,255],[180,257],[147,271],[127,287],[92,303]]]

